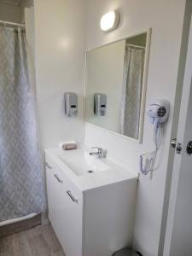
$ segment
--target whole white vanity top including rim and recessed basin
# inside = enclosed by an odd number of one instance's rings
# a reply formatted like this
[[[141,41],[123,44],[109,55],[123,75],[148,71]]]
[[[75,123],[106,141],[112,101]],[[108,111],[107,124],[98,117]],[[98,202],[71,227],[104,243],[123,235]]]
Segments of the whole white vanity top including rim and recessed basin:
[[[45,155],[50,160],[49,165],[53,164],[51,161],[55,162],[81,191],[138,178],[128,166],[123,166],[108,158],[97,159],[96,156],[90,155],[91,148],[85,145],[80,147],[68,151],[61,148],[49,148],[45,150]]]

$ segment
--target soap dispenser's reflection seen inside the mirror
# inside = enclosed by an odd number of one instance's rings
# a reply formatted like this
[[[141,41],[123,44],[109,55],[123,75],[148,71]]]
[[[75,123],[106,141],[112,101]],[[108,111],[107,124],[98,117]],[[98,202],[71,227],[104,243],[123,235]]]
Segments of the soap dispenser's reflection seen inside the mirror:
[[[94,113],[99,116],[105,116],[106,111],[107,111],[107,95],[104,93],[95,93]]]

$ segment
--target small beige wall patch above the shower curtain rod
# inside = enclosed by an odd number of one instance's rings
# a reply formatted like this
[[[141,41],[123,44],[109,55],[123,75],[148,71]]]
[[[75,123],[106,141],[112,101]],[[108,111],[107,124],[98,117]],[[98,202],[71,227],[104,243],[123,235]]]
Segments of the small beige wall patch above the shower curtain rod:
[[[7,3],[0,3],[0,20],[20,22],[20,7]]]

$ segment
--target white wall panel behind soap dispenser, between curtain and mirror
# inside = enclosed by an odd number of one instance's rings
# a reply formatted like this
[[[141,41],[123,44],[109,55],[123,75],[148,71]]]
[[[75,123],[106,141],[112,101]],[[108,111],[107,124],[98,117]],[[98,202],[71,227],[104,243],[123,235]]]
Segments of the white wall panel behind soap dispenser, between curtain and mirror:
[[[43,147],[84,141],[84,1],[35,0],[36,80]],[[64,115],[64,92],[79,95],[79,116]]]

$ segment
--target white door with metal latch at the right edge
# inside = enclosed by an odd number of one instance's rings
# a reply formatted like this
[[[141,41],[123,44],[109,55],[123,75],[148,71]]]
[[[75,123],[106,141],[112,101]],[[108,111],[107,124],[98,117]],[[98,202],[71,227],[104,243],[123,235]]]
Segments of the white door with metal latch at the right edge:
[[[192,255],[192,22],[188,45],[164,256]]]

